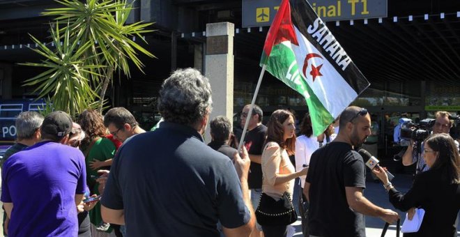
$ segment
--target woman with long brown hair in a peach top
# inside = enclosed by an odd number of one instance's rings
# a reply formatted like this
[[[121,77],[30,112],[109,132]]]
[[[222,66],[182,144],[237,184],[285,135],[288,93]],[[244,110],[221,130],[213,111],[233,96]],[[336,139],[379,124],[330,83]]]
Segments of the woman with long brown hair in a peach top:
[[[284,192],[289,192],[292,200],[294,178],[307,174],[307,169],[296,172],[289,160],[295,144],[294,116],[287,110],[278,109],[268,120],[266,145],[261,158],[262,192],[276,201],[281,199]],[[263,225],[262,231],[266,237],[280,237],[286,236],[286,227]]]

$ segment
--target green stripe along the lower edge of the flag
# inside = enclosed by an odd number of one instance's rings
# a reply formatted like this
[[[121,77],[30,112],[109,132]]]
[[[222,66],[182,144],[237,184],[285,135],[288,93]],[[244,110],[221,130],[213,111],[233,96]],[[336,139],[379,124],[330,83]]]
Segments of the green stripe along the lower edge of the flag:
[[[305,82],[304,77],[300,75],[296,56],[292,49],[285,44],[290,45],[289,41],[274,45],[268,59],[265,54],[262,54],[261,62],[266,62],[266,70],[271,75],[305,97],[312,118],[314,135],[319,136],[334,121],[334,118],[316,97],[312,88]]]

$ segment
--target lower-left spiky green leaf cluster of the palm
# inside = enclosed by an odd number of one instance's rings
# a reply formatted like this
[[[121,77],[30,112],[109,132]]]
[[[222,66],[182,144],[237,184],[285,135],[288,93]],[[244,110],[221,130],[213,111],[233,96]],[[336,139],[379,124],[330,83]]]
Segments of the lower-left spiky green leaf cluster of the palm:
[[[60,38],[59,31],[52,29],[51,36],[56,47],[54,51],[32,36],[34,42],[40,45],[33,50],[45,56],[45,60],[41,63],[22,63],[22,65],[49,68],[40,75],[27,79],[24,85],[35,86],[34,93],[38,93],[39,98],[47,98],[50,95],[55,109],[77,114],[92,102],[87,98],[98,98],[98,94],[91,89],[88,78],[89,75],[95,73],[92,71],[94,68],[104,66],[85,65],[85,58],[82,58],[81,51],[88,49],[91,45],[85,43],[76,49],[77,44],[72,42],[69,31],[69,28],[64,31],[64,40],[61,45],[60,41],[56,40]]]

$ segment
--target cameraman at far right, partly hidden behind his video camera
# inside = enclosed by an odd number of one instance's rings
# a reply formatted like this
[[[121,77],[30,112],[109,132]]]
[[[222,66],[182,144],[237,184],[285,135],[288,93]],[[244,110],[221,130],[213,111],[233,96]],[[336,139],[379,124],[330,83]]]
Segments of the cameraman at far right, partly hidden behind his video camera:
[[[437,134],[437,133],[449,134],[449,130],[452,127],[452,121],[450,121],[449,116],[451,116],[449,112],[445,112],[445,111],[436,112],[435,114],[436,121],[433,125],[433,134]],[[423,143],[417,144],[417,145],[421,146],[419,151],[423,151]],[[458,142],[456,142],[456,145],[457,145],[457,148],[459,148]],[[422,171],[426,171],[428,167],[425,164],[422,158],[422,155],[417,152],[414,153],[413,148],[414,148],[414,141],[411,139],[411,143],[409,144],[406,152],[403,155],[402,163],[404,166],[409,166],[417,162],[417,169],[415,170],[415,174],[418,174]]]

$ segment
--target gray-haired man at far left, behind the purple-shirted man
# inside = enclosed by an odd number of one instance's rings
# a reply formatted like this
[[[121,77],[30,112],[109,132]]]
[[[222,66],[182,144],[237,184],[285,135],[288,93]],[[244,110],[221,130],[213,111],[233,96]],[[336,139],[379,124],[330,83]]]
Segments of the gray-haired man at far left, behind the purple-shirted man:
[[[43,123],[43,115],[29,111],[22,112],[16,119],[16,143],[6,150],[0,165],[10,158],[11,155],[22,151],[27,146],[32,146],[40,141],[40,125]]]

